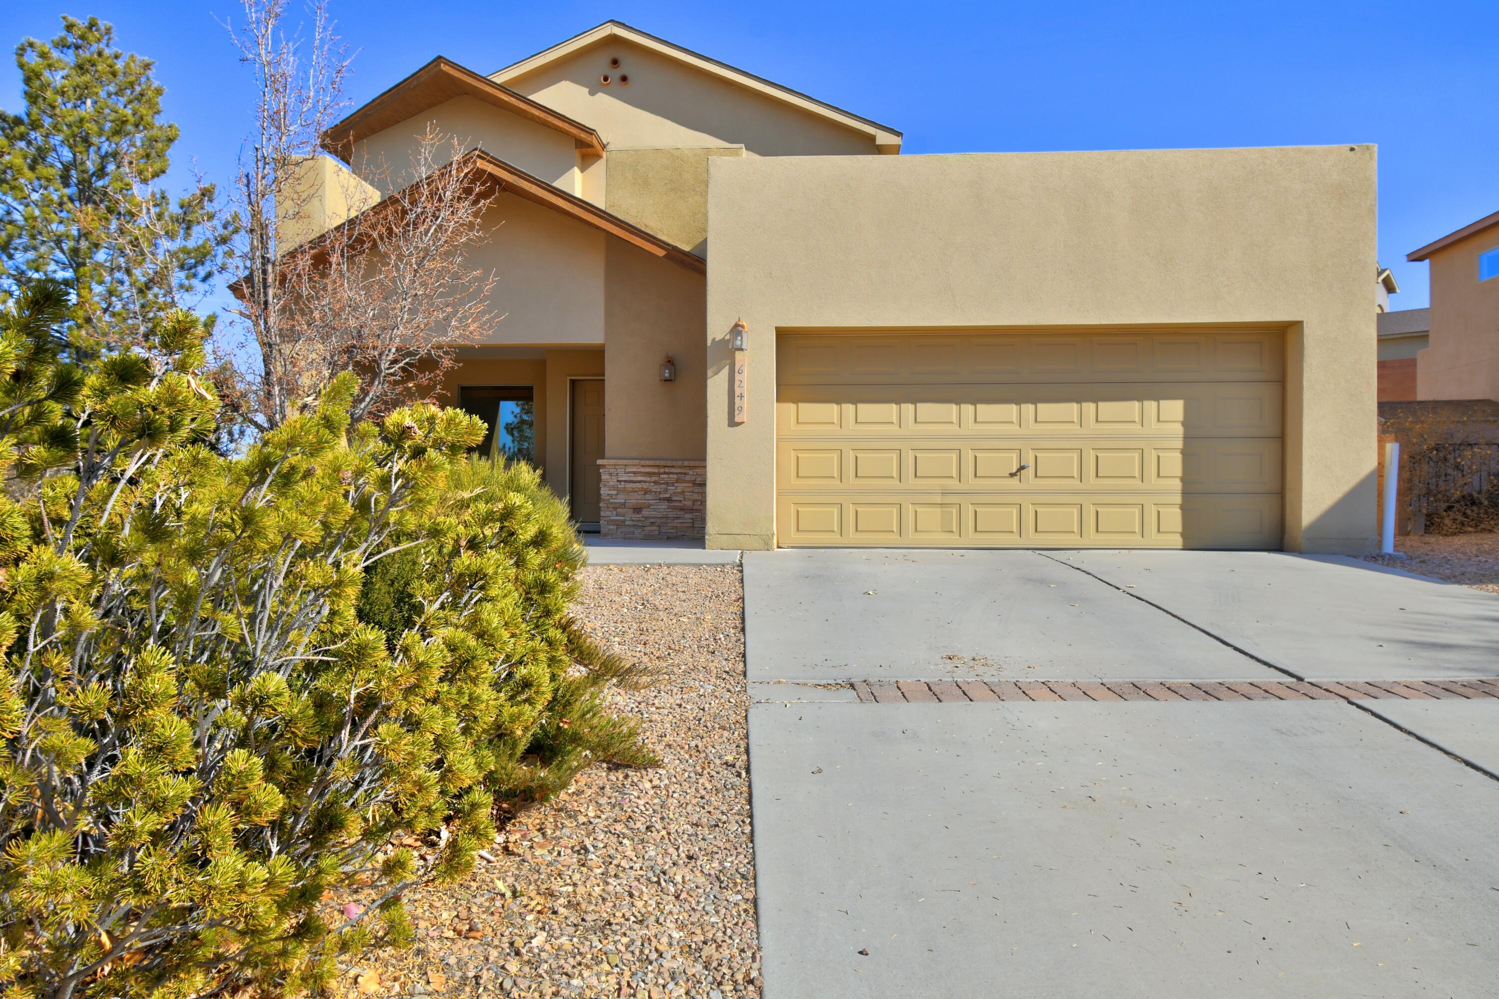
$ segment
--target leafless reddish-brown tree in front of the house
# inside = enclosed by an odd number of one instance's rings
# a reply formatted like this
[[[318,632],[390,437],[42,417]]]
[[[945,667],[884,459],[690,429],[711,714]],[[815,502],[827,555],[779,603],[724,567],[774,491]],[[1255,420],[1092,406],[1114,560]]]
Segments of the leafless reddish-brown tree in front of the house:
[[[465,144],[429,124],[399,172],[384,162],[331,171],[388,193],[319,232],[330,222],[327,192],[298,171],[319,154],[342,108],[349,58],[324,0],[312,7],[306,40],[283,34],[285,0],[244,7],[235,42],[253,67],[258,103],[238,175],[237,315],[253,349],[222,356],[214,380],[229,409],[261,431],[340,371],[360,379],[351,416],[379,415],[424,397],[453,365],[454,344],[487,338],[495,274],[474,262],[474,250],[489,238],[492,192],[463,168]]]

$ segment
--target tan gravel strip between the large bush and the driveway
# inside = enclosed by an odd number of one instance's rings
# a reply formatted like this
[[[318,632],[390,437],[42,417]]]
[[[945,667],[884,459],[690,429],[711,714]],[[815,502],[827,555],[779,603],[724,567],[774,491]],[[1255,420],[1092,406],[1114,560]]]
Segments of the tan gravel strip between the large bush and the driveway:
[[[348,968],[345,995],[760,995],[739,568],[589,568],[577,613],[661,671],[612,695],[661,768],[594,767],[523,812],[409,897],[417,944]]]

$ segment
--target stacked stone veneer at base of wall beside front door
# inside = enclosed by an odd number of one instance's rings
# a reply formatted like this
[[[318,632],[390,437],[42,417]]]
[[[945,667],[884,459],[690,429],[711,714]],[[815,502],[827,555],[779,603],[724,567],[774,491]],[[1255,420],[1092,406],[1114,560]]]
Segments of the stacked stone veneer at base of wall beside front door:
[[[708,463],[601,458],[598,533],[637,541],[702,539]]]

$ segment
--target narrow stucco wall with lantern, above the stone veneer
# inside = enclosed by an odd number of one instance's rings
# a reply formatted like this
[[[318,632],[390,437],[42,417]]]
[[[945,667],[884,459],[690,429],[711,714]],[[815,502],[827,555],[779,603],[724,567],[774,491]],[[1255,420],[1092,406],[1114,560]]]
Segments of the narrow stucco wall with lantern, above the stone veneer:
[[[705,454],[702,274],[610,240],[604,309],[604,443],[610,458]],[[670,353],[676,380],[663,382]]]

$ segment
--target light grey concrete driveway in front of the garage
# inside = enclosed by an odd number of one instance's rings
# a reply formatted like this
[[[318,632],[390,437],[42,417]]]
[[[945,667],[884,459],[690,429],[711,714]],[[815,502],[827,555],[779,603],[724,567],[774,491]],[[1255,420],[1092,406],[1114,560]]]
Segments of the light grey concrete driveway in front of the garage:
[[[1493,995],[1499,699],[842,681],[1472,683],[1499,598],[1250,553],[776,551],[745,629],[767,999]]]

